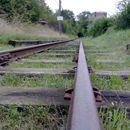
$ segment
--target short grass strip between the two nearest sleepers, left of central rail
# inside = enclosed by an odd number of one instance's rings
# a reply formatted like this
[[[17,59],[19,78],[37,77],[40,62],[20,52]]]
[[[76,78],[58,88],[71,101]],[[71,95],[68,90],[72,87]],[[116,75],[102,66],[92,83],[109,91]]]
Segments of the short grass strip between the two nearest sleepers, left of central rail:
[[[69,88],[73,83],[73,76],[18,76],[6,74],[2,77],[0,86]]]

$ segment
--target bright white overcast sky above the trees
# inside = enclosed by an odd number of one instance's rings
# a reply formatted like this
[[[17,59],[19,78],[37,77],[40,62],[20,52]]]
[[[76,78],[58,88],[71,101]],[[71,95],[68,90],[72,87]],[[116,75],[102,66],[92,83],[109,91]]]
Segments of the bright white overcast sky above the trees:
[[[58,9],[59,0],[45,0],[49,7]],[[106,11],[108,16],[117,12],[117,4],[121,0],[62,0],[62,8],[72,10],[75,15],[82,11]]]

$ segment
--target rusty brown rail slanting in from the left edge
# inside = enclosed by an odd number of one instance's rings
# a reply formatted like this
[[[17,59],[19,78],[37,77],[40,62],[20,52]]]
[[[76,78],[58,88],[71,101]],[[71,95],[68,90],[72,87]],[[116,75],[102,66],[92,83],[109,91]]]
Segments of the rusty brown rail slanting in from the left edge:
[[[46,44],[39,44],[39,45],[19,48],[19,49],[1,51],[0,52],[0,65],[6,65],[7,63],[11,61],[15,61],[19,58],[22,58],[22,57],[25,57],[34,53],[38,53],[41,51],[45,51],[58,45],[64,45],[74,40],[75,39],[67,40],[67,41],[51,42],[51,43],[46,43]]]

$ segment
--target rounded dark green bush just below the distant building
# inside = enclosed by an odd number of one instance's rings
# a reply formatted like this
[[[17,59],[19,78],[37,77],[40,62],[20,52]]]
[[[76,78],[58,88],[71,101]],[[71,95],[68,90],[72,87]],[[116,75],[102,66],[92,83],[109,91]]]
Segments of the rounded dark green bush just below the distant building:
[[[93,21],[88,27],[88,35],[97,37],[107,31],[112,25],[112,20],[108,18],[101,18]]]

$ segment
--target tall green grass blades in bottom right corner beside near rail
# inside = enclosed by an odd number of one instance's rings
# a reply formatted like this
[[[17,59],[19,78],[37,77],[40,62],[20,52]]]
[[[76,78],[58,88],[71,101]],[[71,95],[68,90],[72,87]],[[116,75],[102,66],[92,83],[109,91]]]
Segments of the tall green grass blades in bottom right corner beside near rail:
[[[105,130],[129,130],[130,120],[127,111],[124,109],[100,109],[102,129]]]

